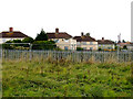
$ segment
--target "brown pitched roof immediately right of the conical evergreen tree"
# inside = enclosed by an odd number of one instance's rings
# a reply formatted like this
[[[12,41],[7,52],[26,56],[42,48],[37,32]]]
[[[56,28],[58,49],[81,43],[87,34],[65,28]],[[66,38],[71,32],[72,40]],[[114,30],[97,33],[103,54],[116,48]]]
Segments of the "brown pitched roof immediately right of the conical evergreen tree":
[[[51,33],[47,33],[49,38],[71,38],[72,36],[70,34],[68,34],[66,32],[51,32]]]

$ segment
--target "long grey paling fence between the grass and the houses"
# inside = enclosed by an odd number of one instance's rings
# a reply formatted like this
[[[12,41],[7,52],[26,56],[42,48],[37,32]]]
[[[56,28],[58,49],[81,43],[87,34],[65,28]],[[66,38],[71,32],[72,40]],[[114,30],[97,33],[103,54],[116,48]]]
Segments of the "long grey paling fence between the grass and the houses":
[[[88,62],[94,59],[96,62],[116,61],[131,62],[132,52],[78,52],[78,51],[20,51],[20,50],[3,50],[3,59],[22,59],[32,61],[32,58],[45,59],[51,57],[53,61],[71,59],[72,62]]]

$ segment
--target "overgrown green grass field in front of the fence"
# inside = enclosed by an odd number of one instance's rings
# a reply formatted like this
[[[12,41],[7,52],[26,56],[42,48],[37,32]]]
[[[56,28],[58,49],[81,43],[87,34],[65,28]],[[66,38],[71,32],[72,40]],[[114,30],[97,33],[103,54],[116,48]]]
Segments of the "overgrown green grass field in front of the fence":
[[[3,61],[3,97],[131,97],[131,63]]]

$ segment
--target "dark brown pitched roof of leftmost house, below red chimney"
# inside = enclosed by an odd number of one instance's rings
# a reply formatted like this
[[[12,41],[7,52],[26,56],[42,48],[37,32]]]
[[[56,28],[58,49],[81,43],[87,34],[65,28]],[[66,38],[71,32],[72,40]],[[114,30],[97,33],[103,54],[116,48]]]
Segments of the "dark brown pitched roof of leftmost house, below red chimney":
[[[22,32],[20,31],[13,31],[13,32],[1,32],[0,33],[0,36],[1,37],[29,37],[28,35],[23,34]]]

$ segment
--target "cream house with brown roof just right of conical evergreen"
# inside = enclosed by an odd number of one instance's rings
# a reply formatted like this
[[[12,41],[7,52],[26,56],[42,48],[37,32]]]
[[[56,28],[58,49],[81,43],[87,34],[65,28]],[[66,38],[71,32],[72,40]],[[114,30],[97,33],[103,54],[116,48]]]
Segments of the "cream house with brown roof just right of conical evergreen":
[[[47,32],[47,35],[48,38],[54,41],[61,50],[76,50],[76,41],[66,32],[59,32],[58,28],[55,32]]]

